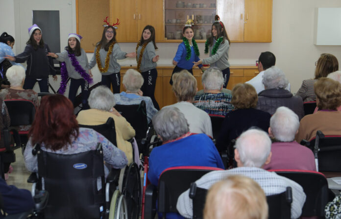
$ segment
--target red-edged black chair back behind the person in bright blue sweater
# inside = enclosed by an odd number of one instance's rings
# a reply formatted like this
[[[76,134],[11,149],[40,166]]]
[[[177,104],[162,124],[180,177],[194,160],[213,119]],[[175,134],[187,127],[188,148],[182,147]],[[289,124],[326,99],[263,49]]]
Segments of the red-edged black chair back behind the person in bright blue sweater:
[[[212,170],[210,167],[174,167],[164,170],[159,178],[158,211],[165,217],[165,213],[175,212],[178,197],[190,188],[191,183]]]

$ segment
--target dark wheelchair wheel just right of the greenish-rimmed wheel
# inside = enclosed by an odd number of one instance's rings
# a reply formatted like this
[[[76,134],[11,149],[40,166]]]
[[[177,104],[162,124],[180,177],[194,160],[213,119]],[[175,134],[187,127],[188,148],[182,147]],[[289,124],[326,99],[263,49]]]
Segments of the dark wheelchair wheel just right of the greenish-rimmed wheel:
[[[136,163],[132,163],[126,169],[123,177],[122,194],[127,202],[128,218],[138,219],[141,209],[141,176]]]

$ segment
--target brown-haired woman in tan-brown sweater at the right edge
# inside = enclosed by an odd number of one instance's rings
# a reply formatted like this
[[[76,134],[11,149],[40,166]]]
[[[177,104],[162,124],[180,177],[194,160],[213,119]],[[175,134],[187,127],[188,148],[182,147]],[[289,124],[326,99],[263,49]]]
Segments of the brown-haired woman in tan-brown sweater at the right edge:
[[[330,78],[320,78],[314,84],[317,107],[315,114],[310,114],[300,122],[295,140],[300,143],[303,139],[310,141],[316,136],[317,130],[325,135],[341,135],[341,84]]]

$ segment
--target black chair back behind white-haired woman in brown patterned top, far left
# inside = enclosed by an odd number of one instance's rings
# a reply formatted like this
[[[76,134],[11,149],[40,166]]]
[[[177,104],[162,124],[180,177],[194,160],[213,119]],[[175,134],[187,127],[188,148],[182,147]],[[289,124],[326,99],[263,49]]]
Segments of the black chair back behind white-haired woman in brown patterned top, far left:
[[[5,99],[4,102],[11,119],[10,126],[32,124],[36,112],[32,101],[27,99]]]

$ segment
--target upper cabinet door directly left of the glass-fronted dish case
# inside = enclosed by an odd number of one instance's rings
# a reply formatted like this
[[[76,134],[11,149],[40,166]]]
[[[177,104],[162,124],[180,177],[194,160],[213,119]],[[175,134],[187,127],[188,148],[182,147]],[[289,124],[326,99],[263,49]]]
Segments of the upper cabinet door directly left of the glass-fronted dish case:
[[[152,25],[155,28],[155,40],[163,41],[164,8],[162,0],[137,0],[137,40],[141,39],[143,28]]]

